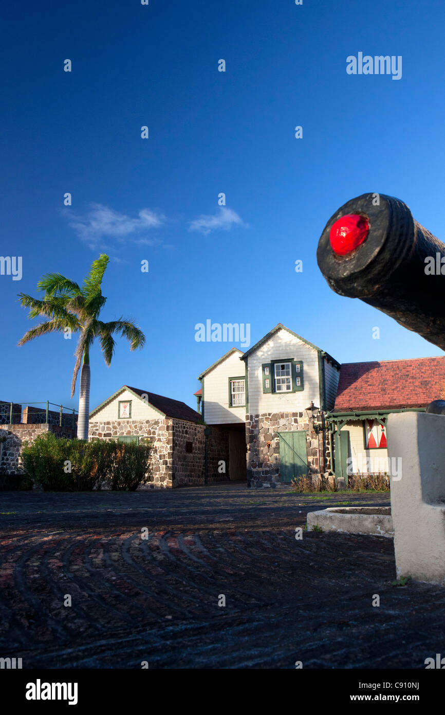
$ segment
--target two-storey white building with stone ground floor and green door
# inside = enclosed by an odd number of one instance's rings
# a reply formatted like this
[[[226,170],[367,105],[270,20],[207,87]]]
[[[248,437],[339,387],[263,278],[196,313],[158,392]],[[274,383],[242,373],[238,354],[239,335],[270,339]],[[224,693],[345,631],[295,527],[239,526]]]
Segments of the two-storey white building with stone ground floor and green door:
[[[231,478],[247,474],[249,484],[274,487],[329,472],[323,414],[334,407],[339,368],[279,323],[247,352],[232,348],[201,373],[201,413],[229,432]]]

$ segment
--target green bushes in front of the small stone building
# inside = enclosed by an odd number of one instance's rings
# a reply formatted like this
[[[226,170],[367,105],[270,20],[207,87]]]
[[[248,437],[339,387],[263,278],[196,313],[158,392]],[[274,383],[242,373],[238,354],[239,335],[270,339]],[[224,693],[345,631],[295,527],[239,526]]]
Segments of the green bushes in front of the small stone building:
[[[21,450],[24,470],[45,491],[134,491],[151,477],[151,443],[37,437]]]

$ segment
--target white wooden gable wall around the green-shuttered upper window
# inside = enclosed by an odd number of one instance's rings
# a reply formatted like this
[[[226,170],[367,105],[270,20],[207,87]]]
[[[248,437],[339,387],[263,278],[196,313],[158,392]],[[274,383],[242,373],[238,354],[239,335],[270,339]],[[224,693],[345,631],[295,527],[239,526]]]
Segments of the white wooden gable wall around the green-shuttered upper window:
[[[271,360],[303,360],[304,390],[296,393],[263,393],[262,365]],[[320,406],[318,354],[291,335],[287,330],[277,330],[247,358],[249,368],[249,413],[261,415],[276,412],[303,412],[311,400]]]

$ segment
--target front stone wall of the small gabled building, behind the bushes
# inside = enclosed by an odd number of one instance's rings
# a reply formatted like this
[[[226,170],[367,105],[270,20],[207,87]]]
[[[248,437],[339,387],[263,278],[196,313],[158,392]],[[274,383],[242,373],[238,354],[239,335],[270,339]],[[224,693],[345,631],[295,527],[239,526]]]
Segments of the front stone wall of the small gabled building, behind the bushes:
[[[144,488],[171,487],[173,483],[172,420],[159,415],[159,420],[106,420],[89,423],[89,440],[94,438],[111,440],[126,436],[139,437],[139,440],[146,437],[154,444],[151,481]]]

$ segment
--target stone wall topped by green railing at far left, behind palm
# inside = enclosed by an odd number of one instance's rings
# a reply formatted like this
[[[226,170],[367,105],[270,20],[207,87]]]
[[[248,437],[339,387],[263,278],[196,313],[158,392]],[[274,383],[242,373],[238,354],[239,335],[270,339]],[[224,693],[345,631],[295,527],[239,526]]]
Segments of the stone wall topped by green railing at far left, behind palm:
[[[69,428],[59,427],[59,425],[8,425],[0,426],[1,458],[0,472],[2,474],[20,474],[23,472],[21,461],[21,445],[32,442],[39,435],[46,432],[53,432],[56,437],[72,439],[75,431]]]

